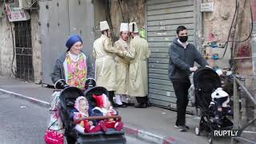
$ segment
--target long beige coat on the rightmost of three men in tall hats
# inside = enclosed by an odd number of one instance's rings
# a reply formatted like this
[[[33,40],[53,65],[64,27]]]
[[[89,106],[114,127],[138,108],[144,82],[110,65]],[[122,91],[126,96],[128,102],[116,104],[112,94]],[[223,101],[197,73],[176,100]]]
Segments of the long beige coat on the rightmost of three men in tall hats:
[[[148,94],[147,58],[150,57],[148,42],[136,36],[130,41],[130,50],[124,54],[130,58],[128,95],[145,97]]]

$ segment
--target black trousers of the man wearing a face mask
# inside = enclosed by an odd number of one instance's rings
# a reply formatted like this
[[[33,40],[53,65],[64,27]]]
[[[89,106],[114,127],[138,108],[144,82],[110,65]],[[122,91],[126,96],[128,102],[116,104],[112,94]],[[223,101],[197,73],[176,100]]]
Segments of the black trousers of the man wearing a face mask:
[[[190,88],[190,80],[173,82],[176,94],[177,120],[176,126],[185,126],[186,124],[186,106],[189,102],[188,90]]]

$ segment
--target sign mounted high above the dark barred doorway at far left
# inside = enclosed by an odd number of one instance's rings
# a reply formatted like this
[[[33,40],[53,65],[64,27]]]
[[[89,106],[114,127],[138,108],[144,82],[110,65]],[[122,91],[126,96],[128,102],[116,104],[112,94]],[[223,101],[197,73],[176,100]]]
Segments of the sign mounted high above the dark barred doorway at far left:
[[[6,13],[10,22],[26,21],[30,19],[30,14],[25,10],[15,9],[14,3],[6,3]]]

